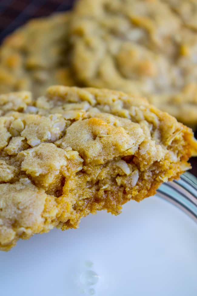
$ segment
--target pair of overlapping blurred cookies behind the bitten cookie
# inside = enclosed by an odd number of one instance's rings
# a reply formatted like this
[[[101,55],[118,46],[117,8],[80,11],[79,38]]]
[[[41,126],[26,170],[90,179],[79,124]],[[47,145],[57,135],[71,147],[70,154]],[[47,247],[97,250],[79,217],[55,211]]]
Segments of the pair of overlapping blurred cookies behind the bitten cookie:
[[[145,96],[197,125],[197,2],[78,0],[28,22],[0,49],[0,93],[98,87]]]

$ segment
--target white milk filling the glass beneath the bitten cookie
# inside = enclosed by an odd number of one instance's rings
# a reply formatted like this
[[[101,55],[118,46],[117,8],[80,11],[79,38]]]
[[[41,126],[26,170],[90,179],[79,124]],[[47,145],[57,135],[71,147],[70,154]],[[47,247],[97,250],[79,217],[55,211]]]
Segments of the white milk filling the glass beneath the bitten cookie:
[[[80,282],[87,270],[99,275],[89,288]],[[197,225],[152,197],[128,202],[119,216],[99,212],[78,230],[35,235],[0,252],[1,296],[90,295],[90,288],[98,296],[196,296]]]

